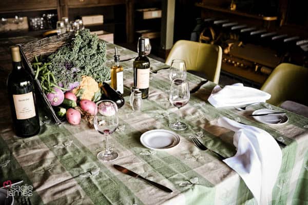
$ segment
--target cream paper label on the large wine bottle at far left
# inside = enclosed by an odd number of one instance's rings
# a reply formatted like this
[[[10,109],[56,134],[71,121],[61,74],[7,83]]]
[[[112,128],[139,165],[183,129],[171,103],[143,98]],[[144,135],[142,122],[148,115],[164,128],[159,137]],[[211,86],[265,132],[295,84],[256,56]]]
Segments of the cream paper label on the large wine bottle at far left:
[[[29,119],[36,115],[32,92],[13,95],[17,119]]]

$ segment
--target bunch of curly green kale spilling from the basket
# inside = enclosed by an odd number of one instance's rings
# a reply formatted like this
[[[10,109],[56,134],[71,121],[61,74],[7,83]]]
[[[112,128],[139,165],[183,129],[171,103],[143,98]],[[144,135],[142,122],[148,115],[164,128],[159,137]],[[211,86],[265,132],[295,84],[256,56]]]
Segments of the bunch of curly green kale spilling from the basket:
[[[110,68],[106,63],[106,44],[88,29],[76,32],[72,42],[48,56],[49,69],[64,88],[70,83],[81,81],[87,75],[97,82],[110,79]]]

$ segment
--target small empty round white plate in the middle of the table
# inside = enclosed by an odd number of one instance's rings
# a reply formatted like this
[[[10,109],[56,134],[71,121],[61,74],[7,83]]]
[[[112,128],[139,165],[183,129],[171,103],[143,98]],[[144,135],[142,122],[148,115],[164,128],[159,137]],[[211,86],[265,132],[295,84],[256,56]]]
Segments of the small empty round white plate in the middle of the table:
[[[169,130],[150,130],[140,137],[141,144],[152,150],[166,150],[180,144],[180,136]]]

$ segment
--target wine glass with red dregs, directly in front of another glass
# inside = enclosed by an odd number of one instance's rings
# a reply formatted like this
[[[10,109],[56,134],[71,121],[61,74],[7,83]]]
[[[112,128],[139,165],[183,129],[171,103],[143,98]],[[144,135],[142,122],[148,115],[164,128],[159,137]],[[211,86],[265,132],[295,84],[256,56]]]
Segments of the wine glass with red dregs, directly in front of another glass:
[[[174,130],[185,130],[187,125],[180,122],[180,108],[185,106],[190,98],[188,81],[182,78],[176,78],[171,83],[169,101],[178,108],[178,118],[176,122],[171,122],[169,128]]]

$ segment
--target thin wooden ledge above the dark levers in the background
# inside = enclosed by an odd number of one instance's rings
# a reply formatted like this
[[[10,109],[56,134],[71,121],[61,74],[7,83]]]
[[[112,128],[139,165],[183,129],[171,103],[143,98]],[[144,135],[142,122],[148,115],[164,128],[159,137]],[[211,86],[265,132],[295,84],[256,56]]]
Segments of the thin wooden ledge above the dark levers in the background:
[[[229,13],[229,14],[234,14],[234,15],[238,15],[238,16],[244,16],[244,17],[248,17],[248,18],[255,18],[255,19],[266,20],[266,21],[277,20],[277,16],[259,16],[259,15],[244,13],[244,12],[241,12],[241,11],[231,11],[229,9],[224,9],[224,8],[220,8],[220,7],[216,7],[216,6],[209,6],[209,5],[205,5],[205,4],[202,4],[202,3],[196,3],[195,5],[197,7],[208,9],[208,10],[219,11],[219,12],[223,12],[223,13]]]

